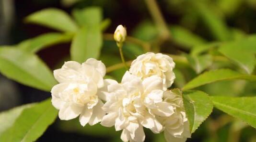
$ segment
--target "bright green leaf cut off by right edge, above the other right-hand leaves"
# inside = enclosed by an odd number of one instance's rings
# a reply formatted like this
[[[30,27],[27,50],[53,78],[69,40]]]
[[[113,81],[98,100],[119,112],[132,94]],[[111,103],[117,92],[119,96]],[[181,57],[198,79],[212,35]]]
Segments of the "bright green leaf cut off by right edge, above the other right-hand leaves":
[[[253,72],[256,60],[256,36],[221,44],[219,51],[243,68],[246,73]]]

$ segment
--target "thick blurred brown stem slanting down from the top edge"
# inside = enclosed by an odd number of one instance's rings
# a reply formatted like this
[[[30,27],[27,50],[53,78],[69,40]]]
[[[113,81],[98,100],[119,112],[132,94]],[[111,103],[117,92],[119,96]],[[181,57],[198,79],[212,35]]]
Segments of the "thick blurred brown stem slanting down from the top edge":
[[[168,27],[166,25],[166,22],[163,19],[163,15],[156,3],[155,0],[145,0],[148,9],[151,13],[151,16],[156,23],[156,26],[158,27],[158,30],[160,32],[160,36],[163,40],[166,40],[171,37]]]

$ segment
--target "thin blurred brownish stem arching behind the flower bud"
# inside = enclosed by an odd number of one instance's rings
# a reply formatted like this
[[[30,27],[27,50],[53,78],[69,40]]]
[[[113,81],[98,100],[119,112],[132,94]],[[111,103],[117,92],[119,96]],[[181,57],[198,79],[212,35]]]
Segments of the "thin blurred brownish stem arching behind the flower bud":
[[[112,33],[104,33],[103,38],[105,40],[114,40]],[[149,52],[151,50],[151,44],[131,36],[126,37],[126,42],[140,45],[145,52]]]

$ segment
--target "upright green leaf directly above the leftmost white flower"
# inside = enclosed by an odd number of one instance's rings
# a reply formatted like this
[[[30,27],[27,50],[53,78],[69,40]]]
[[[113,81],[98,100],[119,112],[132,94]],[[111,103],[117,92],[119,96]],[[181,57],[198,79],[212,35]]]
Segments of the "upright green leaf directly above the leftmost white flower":
[[[102,47],[102,34],[99,25],[82,27],[71,44],[71,59],[84,62],[88,58],[98,58]]]

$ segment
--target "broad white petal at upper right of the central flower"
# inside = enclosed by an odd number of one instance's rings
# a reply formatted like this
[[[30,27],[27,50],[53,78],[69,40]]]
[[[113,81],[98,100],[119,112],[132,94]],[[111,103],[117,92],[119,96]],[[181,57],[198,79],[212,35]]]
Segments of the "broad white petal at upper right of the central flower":
[[[159,76],[150,76],[143,80],[144,92],[151,92],[151,90],[160,90],[163,88],[163,80]]]

